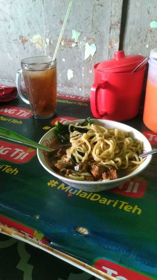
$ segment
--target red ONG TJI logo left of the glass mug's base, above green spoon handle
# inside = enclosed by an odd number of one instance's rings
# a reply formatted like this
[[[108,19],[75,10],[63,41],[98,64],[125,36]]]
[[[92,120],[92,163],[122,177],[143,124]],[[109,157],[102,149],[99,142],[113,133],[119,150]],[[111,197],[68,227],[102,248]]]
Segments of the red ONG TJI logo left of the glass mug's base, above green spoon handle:
[[[30,118],[32,116],[30,109],[7,105],[0,106],[0,114],[16,118]]]

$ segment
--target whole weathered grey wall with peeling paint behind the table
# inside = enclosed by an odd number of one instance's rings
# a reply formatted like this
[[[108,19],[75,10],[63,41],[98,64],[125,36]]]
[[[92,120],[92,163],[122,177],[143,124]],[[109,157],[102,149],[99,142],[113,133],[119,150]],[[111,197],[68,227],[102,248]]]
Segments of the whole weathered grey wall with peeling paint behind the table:
[[[53,56],[68,4],[0,1],[0,83],[15,84],[22,58]],[[89,95],[94,64],[118,49],[149,55],[157,47],[156,21],[156,0],[73,0],[57,54],[58,91]]]

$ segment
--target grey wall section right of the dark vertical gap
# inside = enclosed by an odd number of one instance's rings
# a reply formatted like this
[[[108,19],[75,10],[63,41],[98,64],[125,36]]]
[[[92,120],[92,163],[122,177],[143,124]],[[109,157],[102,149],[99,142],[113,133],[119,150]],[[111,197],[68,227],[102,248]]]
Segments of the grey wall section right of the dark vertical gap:
[[[122,47],[127,54],[150,55],[157,48],[157,1],[124,0]]]

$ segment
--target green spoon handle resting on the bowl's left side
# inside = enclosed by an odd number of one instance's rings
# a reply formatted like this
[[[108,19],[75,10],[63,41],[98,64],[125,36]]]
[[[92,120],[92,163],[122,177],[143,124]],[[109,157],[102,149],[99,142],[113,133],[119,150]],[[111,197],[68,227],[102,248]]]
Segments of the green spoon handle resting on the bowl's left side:
[[[18,143],[22,143],[22,144],[25,144],[27,146],[31,146],[33,148],[38,148],[40,150],[45,150],[47,152],[51,152],[52,149],[51,148],[48,148],[46,146],[43,146],[43,145],[40,145],[10,129],[6,129],[4,127],[0,127],[0,137],[1,138],[4,138],[4,139],[7,139],[7,140],[10,140],[10,141],[13,141],[13,142],[18,142]]]

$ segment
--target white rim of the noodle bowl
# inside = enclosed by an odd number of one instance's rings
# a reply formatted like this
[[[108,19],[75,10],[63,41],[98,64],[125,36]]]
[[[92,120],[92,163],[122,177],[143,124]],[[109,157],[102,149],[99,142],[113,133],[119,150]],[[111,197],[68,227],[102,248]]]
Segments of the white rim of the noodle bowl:
[[[127,126],[130,130],[132,129],[132,130],[135,130],[135,132],[138,132],[138,133],[140,133],[144,138],[145,138],[145,140],[146,140],[146,142],[147,142],[147,144],[150,146],[150,150],[152,149],[152,147],[151,147],[151,144],[150,144],[150,142],[148,141],[148,139],[145,137],[145,135],[144,134],[142,134],[139,130],[137,130],[137,129],[135,129],[135,128],[133,128],[132,126],[128,126],[128,125],[126,125],[126,124],[124,124],[124,123],[121,123],[121,122],[116,122],[116,121],[110,121],[110,120],[104,120],[104,119],[92,119],[91,118],[91,120],[92,121],[105,121],[105,122],[107,122],[107,123],[114,123],[114,124],[116,124],[116,123],[119,123],[119,124],[122,124],[122,125],[124,125],[124,126]],[[65,124],[66,125],[68,125],[68,124],[71,124],[71,123],[75,123],[75,122],[82,122],[82,121],[84,121],[84,119],[76,119],[76,120],[73,120],[73,121],[69,121],[69,122],[66,122]],[[43,141],[43,138],[45,138],[45,136],[46,136],[46,134],[49,134],[50,133],[50,131],[52,131],[52,130],[54,130],[55,129],[55,127],[52,127],[52,129],[50,129],[48,132],[46,132],[43,136],[42,136],[42,138],[40,139],[40,141],[39,141],[39,144],[42,144],[41,142]],[[74,179],[70,179],[70,178],[66,178],[66,177],[64,177],[64,176],[62,176],[62,175],[60,175],[60,174],[58,174],[57,172],[55,172],[53,169],[51,169],[50,167],[49,168],[47,168],[47,166],[45,166],[45,164],[42,162],[42,160],[40,159],[40,154],[39,154],[39,152],[40,152],[40,150],[39,149],[37,149],[37,157],[38,157],[38,160],[39,160],[39,162],[40,162],[40,164],[44,167],[44,169],[46,169],[49,173],[51,173],[53,176],[55,176],[55,177],[57,177],[57,178],[59,178],[61,181],[66,181],[67,183],[69,182],[71,182],[71,183],[75,183],[75,184],[84,184],[84,185],[104,185],[104,184],[113,184],[113,183],[118,183],[118,182],[126,182],[126,181],[128,181],[128,179],[129,178],[132,178],[132,177],[135,177],[137,174],[139,174],[139,173],[141,173],[149,164],[150,164],[150,162],[151,162],[151,159],[152,159],[152,155],[149,155],[149,159],[148,159],[148,161],[147,161],[147,164],[144,166],[144,168],[142,169],[142,170],[139,170],[138,171],[138,167],[137,167],[137,171],[136,171],[136,173],[132,176],[132,172],[130,173],[130,174],[128,174],[128,175],[126,175],[126,176],[124,176],[124,177],[121,177],[121,178],[118,178],[118,179],[114,179],[114,180],[109,180],[109,181],[81,181],[81,180],[74,180]]]

